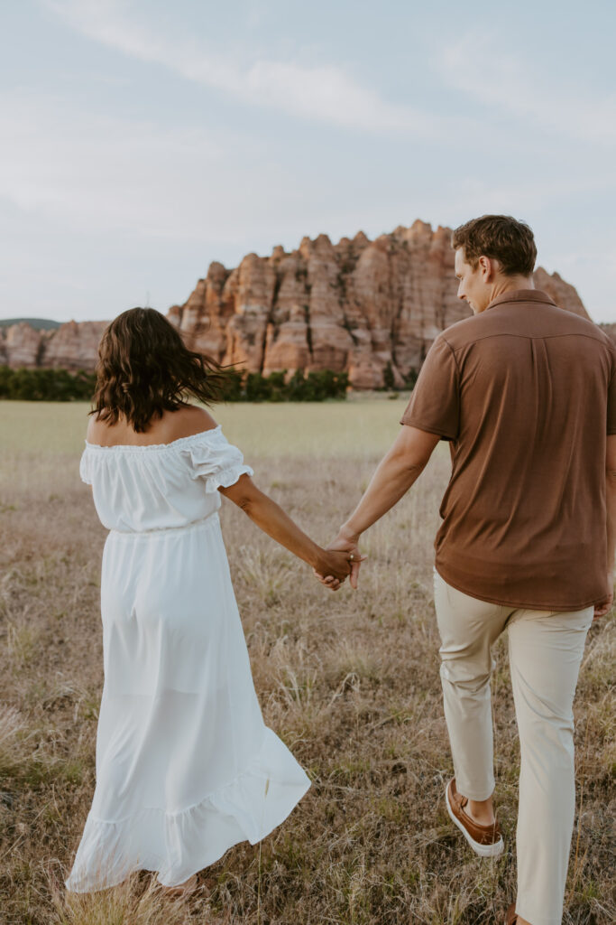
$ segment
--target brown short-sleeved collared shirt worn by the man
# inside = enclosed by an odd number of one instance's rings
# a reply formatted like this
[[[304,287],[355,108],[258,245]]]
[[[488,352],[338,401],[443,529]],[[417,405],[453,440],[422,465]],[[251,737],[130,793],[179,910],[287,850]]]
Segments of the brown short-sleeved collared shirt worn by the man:
[[[605,596],[616,350],[599,327],[506,292],[434,341],[401,424],[452,442],[435,542],[448,584],[548,611]]]

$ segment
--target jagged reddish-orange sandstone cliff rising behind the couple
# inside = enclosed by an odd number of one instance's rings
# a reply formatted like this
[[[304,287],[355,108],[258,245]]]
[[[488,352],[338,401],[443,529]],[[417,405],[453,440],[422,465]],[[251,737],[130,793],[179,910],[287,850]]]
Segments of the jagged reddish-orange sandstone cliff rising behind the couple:
[[[356,388],[380,388],[391,364],[401,387],[437,334],[470,314],[456,296],[450,240],[450,228],[417,220],[373,241],[361,231],[337,244],[320,235],[291,253],[249,253],[233,270],[212,263],[168,317],[193,350],[251,372],[346,370]],[[558,273],[539,267],[535,283],[588,317]],[[92,369],[105,325],[0,328],[0,364]]]

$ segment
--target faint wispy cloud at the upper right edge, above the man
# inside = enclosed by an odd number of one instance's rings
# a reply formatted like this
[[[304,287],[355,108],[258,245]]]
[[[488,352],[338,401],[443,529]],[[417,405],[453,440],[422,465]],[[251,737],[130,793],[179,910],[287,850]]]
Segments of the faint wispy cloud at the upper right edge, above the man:
[[[477,32],[446,43],[435,55],[435,71],[454,90],[540,129],[578,142],[616,143],[616,95],[598,96],[579,84],[558,82],[537,59],[508,49],[506,38]]]

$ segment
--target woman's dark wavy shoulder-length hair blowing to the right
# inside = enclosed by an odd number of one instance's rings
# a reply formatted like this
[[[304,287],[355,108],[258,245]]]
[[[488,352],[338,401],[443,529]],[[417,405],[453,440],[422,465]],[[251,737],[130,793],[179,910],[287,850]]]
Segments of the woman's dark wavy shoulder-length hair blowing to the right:
[[[139,433],[152,418],[220,400],[223,367],[187,349],[178,331],[153,308],[118,314],[103,333],[91,414],[114,425],[120,415]]]

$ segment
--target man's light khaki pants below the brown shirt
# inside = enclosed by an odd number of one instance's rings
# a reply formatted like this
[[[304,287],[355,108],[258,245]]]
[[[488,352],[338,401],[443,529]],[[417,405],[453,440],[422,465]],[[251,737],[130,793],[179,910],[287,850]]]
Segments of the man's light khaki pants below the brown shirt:
[[[441,682],[458,792],[494,790],[489,676],[492,643],[506,628],[520,735],[516,912],[561,925],[574,828],[574,701],[593,608],[516,610],[470,598],[434,573]]]

